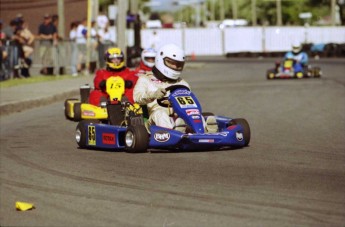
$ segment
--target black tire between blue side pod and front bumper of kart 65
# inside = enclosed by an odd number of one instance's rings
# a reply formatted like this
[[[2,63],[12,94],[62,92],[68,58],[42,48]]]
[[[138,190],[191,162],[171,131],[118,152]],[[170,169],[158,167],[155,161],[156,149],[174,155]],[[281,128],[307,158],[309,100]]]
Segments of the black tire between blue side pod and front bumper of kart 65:
[[[144,125],[128,126],[125,134],[125,147],[127,152],[146,152],[148,145],[149,133]]]

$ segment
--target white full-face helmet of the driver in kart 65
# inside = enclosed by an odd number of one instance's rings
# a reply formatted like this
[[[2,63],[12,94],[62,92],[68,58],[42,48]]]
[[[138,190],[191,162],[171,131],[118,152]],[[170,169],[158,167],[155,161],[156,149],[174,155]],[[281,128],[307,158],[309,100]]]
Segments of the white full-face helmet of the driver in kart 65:
[[[161,47],[156,55],[155,67],[168,79],[178,80],[183,70],[185,55],[175,44]]]

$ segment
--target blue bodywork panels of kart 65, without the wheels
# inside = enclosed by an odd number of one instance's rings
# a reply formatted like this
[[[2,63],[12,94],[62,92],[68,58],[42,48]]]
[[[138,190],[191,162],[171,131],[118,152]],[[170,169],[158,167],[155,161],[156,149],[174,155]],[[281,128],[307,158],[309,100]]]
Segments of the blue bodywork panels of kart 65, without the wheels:
[[[245,146],[243,128],[241,125],[229,125],[231,118],[215,116],[219,130],[216,133],[207,133],[201,105],[188,89],[177,88],[173,90],[168,100],[174,112],[186,122],[190,132],[182,133],[173,129],[150,126],[149,148],[190,150]],[[125,148],[126,127],[87,123],[86,128],[88,130],[86,133],[87,147]]]

